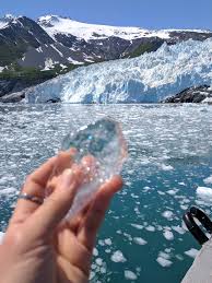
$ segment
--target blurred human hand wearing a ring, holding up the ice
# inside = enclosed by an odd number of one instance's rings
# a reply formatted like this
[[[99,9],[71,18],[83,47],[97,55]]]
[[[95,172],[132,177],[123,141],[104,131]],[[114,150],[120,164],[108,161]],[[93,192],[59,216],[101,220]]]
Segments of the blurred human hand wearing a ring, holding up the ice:
[[[73,152],[60,154],[61,164]],[[57,157],[30,175],[22,192],[45,197]],[[54,192],[42,205],[20,199],[0,246],[1,283],[84,283],[89,281],[92,250],[109,201],[121,186],[119,176],[105,182],[93,201],[74,219],[63,220],[84,174],[80,166],[58,176]]]

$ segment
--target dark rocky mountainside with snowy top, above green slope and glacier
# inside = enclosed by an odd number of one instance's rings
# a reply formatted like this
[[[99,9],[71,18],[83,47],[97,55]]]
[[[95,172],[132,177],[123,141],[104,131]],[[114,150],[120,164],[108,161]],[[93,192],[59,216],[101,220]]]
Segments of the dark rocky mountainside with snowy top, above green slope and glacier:
[[[94,25],[58,15],[0,19],[0,68],[16,63],[64,70],[70,64],[87,64],[137,57],[189,38],[204,40],[212,32],[202,30],[148,31],[140,27]],[[68,70],[68,69],[67,69]]]

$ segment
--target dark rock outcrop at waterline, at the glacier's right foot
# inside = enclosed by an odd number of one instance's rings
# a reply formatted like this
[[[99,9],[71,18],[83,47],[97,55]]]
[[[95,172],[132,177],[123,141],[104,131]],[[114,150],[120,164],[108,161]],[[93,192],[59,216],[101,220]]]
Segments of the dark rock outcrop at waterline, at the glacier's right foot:
[[[212,89],[209,85],[201,85],[186,89],[162,103],[201,103],[208,97],[212,97]]]

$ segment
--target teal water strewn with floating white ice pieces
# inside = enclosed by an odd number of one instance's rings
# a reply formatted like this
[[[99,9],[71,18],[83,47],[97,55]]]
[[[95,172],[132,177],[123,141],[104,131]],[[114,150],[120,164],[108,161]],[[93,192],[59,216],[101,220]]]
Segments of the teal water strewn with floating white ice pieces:
[[[180,282],[200,248],[182,213],[196,204],[211,215],[203,196],[212,189],[210,106],[1,105],[0,231],[26,174],[57,152],[70,129],[105,116],[121,121],[129,158],[126,185],[98,235],[91,282]]]

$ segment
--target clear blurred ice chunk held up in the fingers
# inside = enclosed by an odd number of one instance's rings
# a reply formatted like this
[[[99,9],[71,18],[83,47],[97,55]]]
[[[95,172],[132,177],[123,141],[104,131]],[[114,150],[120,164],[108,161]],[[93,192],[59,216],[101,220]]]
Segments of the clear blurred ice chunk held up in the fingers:
[[[62,141],[61,150],[76,149],[74,162],[80,164],[84,156],[95,160],[95,173],[92,178],[80,186],[68,217],[81,211],[93,199],[101,185],[111,176],[120,174],[127,158],[127,143],[119,122],[103,118],[94,123],[71,132]]]

